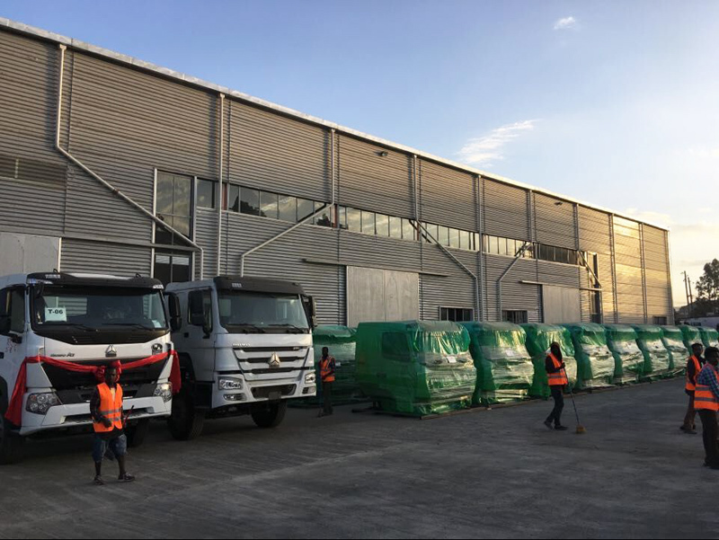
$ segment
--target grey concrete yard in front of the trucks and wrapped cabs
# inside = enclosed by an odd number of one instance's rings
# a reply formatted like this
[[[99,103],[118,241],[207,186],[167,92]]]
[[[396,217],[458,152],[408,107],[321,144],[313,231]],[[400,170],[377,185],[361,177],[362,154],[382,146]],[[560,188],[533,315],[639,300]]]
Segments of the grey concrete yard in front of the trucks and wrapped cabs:
[[[547,430],[545,402],[422,421],[290,410],[184,443],[157,423],[129,456],[138,481],[106,464],[102,487],[90,437],[36,442],[0,468],[0,537],[716,538],[719,471],[678,429],[682,386],[583,395],[581,436]]]

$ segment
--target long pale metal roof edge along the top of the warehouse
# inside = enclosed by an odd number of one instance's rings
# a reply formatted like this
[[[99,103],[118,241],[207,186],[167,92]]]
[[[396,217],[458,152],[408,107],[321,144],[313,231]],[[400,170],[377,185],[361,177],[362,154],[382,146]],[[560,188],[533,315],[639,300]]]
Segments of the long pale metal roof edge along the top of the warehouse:
[[[589,202],[584,202],[579,199],[573,199],[572,197],[568,197],[566,195],[561,195],[559,193],[555,193],[550,190],[538,188],[536,186],[532,186],[532,185],[526,184],[524,182],[514,181],[514,180],[511,180],[510,178],[506,178],[499,174],[487,173],[486,171],[482,171],[480,169],[475,169],[474,167],[470,167],[469,165],[466,165],[466,164],[460,164],[458,162],[454,162],[452,160],[448,160],[443,157],[439,157],[438,155],[431,155],[427,152],[422,152],[421,150],[417,150],[416,148],[413,148],[411,146],[404,146],[399,143],[395,143],[395,142],[386,140],[381,137],[375,137],[373,135],[368,135],[367,133],[362,133],[361,131],[358,131],[357,129],[347,128],[340,124],[331,122],[329,120],[323,120],[321,118],[317,118],[315,116],[306,114],[301,111],[296,111],[294,109],[289,109],[288,107],[283,107],[282,105],[278,105],[277,103],[267,102],[260,98],[256,98],[252,95],[249,95],[247,93],[238,92],[238,91],[228,88],[226,86],[209,83],[208,81],[204,81],[198,77],[186,75],[179,71],[174,71],[173,69],[169,69],[167,67],[157,66],[155,64],[152,64],[151,62],[146,62],[146,61],[140,60],[138,58],[130,57],[128,55],[124,55],[124,54],[115,52],[110,49],[103,49],[102,47],[97,47],[96,45],[92,45],[91,43],[86,43],[81,40],[75,40],[74,38],[68,38],[67,36],[63,36],[63,35],[57,34],[55,32],[46,31],[46,30],[42,30],[40,28],[36,28],[34,26],[30,26],[28,24],[23,24],[22,22],[16,22],[16,21],[7,19],[5,17],[0,17],[0,30],[15,31],[15,32],[26,34],[26,35],[29,35],[29,36],[32,36],[35,38],[40,38],[41,40],[49,40],[49,41],[54,41],[56,43],[62,43],[72,49],[77,49],[77,50],[81,50],[84,52],[88,52],[88,53],[97,55],[102,58],[108,58],[115,62],[119,62],[121,64],[127,64],[129,66],[133,66],[138,69],[154,73],[156,75],[161,75],[164,77],[169,77],[171,79],[176,79],[178,81],[182,81],[182,83],[185,83],[185,84],[191,84],[193,86],[198,86],[198,87],[204,88],[206,90],[212,90],[217,93],[224,93],[227,96],[231,96],[231,97],[233,97],[239,101],[242,101],[242,102],[253,103],[254,105],[258,105],[260,107],[269,109],[271,111],[277,111],[277,112],[284,114],[286,116],[289,116],[289,117],[293,117],[293,118],[296,118],[299,120],[304,120],[306,122],[309,122],[309,123],[312,123],[315,125],[324,126],[325,128],[332,128],[340,133],[345,133],[347,135],[351,135],[352,137],[359,137],[364,140],[371,141],[373,143],[377,143],[378,145],[386,146],[387,148],[391,148],[391,149],[394,149],[394,150],[397,150],[400,152],[417,155],[418,157],[422,157],[424,159],[431,160],[438,164],[445,164],[445,165],[448,165],[449,167],[452,167],[452,168],[455,168],[455,169],[458,169],[461,171],[465,171],[466,173],[478,174],[480,176],[483,176],[484,178],[488,178],[488,179],[495,180],[495,181],[501,181],[502,183],[506,183],[511,186],[516,186],[516,187],[522,188],[524,190],[532,190],[532,191],[535,191],[536,193],[542,193],[543,195],[547,195],[547,196],[553,197],[555,199],[562,199],[567,202],[573,202],[573,203],[579,204],[586,208],[593,208],[595,210],[606,212],[607,214],[612,214],[612,215],[618,216],[618,217],[624,217],[624,218],[634,221],[636,223],[644,223],[646,225],[655,226],[662,230],[667,230],[667,231],[669,230],[669,227],[667,227],[667,226],[655,224],[655,223],[652,223],[649,221],[640,220],[640,219],[637,219],[636,217],[627,216],[625,214],[621,214],[619,212],[610,210],[608,208],[599,207],[599,206],[597,206],[595,204],[591,204]]]

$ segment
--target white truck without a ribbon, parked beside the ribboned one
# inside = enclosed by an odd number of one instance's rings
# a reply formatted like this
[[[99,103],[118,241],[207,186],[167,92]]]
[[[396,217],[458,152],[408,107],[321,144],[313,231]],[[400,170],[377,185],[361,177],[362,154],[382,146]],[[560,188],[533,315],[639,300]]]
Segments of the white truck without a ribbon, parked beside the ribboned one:
[[[173,437],[195,438],[206,418],[250,414],[273,428],[290,399],[316,394],[315,302],[297,283],[220,276],[167,286],[182,392]]]

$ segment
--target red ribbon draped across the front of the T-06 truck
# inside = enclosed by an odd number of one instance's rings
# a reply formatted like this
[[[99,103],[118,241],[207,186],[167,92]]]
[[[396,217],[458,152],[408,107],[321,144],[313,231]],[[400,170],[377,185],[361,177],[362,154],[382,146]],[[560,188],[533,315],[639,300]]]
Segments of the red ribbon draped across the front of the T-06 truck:
[[[128,362],[127,364],[122,364],[121,369],[123,371],[127,371],[137,367],[149,366],[150,364],[161,362],[170,357],[173,359],[173,368],[170,372],[170,382],[173,384],[173,394],[177,394],[180,392],[180,388],[182,387],[182,376],[180,375],[180,359],[177,356],[176,350],[161,352],[160,354],[149,356],[146,359],[134,360],[132,362]],[[10,403],[8,403],[7,412],[5,412],[5,418],[13,422],[13,424],[18,427],[22,426],[22,396],[25,395],[25,392],[27,392],[27,365],[40,364],[40,362],[49,364],[50,366],[59,367],[61,369],[66,369],[67,371],[75,371],[75,373],[97,373],[98,369],[102,368],[102,366],[88,366],[76,362],[67,362],[66,360],[51,359],[46,356],[28,357],[22,360],[20,371],[18,371],[17,378],[15,379],[13,397],[10,399]]]

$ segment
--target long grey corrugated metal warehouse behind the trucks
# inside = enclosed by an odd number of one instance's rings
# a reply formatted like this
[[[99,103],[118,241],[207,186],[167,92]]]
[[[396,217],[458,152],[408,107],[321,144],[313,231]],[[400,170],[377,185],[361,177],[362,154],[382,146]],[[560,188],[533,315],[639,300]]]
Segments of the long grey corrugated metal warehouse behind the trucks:
[[[291,279],[321,323],[672,323],[659,226],[2,18],[0,81],[0,274]]]

